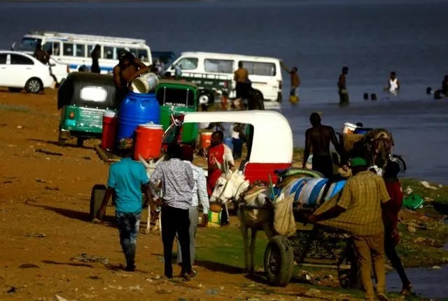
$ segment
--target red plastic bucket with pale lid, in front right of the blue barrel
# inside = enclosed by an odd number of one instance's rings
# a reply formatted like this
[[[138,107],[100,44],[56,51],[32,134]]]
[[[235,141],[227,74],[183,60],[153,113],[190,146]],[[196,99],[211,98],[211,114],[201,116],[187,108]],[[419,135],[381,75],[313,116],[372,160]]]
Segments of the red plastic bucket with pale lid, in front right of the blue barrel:
[[[145,159],[155,159],[160,156],[163,134],[162,125],[148,123],[140,124],[135,130],[136,142],[134,160],[139,160],[139,155]]]

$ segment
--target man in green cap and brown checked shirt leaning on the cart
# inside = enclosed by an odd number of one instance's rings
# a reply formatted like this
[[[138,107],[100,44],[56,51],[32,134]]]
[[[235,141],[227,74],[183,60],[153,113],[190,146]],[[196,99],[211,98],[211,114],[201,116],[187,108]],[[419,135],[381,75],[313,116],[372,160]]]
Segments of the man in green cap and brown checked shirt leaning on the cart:
[[[375,300],[370,267],[373,265],[377,279],[377,298],[388,300],[386,270],[384,267],[384,226],[381,205],[390,199],[384,180],[367,170],[362,158],[351,163],[353,177],[347,180],[339,196],[323,203],[316,213],[308,217],[310,223],[338,228],[351,234],[365,300]]]

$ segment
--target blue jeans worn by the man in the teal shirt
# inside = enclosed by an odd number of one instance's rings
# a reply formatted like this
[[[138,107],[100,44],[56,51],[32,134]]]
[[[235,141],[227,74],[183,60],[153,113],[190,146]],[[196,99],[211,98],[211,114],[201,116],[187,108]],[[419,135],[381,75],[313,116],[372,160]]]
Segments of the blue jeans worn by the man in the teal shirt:
[[[126,265],[132,267],[135,263],[137,235],[139,234],[141,212],[128,213],[116,211],[118,231],[120,231],[120,244],[126,258]]]

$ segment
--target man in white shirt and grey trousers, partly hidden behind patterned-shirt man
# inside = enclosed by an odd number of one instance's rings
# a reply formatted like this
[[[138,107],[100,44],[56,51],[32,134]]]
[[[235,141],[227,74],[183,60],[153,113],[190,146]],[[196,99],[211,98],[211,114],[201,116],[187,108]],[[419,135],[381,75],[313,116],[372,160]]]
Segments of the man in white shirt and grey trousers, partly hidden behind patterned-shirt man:
[[[184,162],[190,164],[193,169],[193,178],[195,179],[195,186],[192,189],[193,200],[188,209],[188,214],[190,216],[190,262],[193,265],[195,263],[195,253],[196,253],[196,230],[197,230],[197,215],[199,203],[202,205],[202,225],[206,226],[209,220],[209,196],[207,196],[207,180],[205,179],[204,170],[202,168],[195,166],[193,164],[193,149],[188,145],[182,145],[182,157]],[[182,265],[182,252],[179,239],[177,240],[177,263]]]

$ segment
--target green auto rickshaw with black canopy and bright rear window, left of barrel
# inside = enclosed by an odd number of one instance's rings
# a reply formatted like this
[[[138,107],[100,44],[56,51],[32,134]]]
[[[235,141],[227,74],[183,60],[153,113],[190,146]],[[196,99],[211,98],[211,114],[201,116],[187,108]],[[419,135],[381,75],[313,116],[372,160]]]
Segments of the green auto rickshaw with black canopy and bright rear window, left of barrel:
[[[57,91],[57,109],[62,109],[58,144],[77,138],[76,145],[81,147],[86,139],[101,139],[104,111],[118,112],[119,108],[112,75],[70,73]]]

